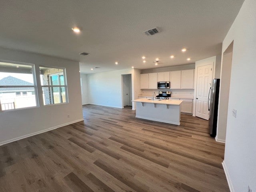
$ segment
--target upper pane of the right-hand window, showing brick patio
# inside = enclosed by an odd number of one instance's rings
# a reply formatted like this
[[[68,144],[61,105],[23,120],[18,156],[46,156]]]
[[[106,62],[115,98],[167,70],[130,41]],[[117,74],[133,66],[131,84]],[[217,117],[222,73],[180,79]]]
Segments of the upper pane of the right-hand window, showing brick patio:
[[[40,67],[41,85],[60,85],[58,76],[63,76],[63,69]]]

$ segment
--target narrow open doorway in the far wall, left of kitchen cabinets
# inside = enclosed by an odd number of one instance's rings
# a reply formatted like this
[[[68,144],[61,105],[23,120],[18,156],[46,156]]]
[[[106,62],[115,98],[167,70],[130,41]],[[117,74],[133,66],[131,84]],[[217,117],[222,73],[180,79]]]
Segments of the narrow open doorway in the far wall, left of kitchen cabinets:
[[[122,75],[123,107],[132,106],[132,74]]]

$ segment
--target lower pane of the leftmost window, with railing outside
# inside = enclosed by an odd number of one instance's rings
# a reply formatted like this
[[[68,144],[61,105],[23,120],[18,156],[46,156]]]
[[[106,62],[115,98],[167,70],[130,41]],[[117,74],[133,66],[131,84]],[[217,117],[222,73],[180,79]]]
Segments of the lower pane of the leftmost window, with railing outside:
[[[18,92],[16,90],[19,90]],[[32,92],[35,92],[33,87],[25,88],[0,88],[2,96],[0,103],[2,110],[11,110],[19,108],[27,108],[36,106],[36,97]],[[25,94],[21,94],[21,92]]]

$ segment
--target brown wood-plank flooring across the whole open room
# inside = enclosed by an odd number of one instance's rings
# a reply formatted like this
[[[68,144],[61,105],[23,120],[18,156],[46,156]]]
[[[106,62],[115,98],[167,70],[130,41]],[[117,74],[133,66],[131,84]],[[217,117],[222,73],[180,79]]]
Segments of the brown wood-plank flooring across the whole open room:
[[[0,192],[228,192],[208,122],[175,126],[130,108],[83,106],[84,122],[0,146]]]

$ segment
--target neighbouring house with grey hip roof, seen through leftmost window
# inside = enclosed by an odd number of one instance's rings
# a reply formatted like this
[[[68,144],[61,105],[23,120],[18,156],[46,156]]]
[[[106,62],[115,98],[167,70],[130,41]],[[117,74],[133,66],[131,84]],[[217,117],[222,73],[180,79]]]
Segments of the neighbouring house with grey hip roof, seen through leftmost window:
[[[8,76],[0,80],[1,86],[33,86],[24,80]],[[0,88],[0,103],[2,110],[36,106],[36,97],[33,87]]]

